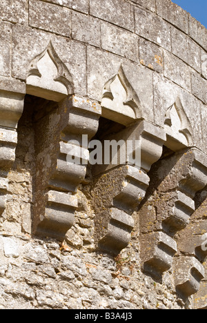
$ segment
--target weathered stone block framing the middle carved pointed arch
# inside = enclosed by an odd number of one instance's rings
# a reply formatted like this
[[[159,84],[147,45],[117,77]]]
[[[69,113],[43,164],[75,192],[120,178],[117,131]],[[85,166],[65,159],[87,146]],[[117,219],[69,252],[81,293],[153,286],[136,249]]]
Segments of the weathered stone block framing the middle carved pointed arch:
[[[135,90],[137,97],[143,106],[144,116],[148,120],[153,119],[153,88],[152,88],[152,71],[139,66],[138,63],[126,61],[126,59],[112,55],[110,52],[103,52],[88,47],[88,96],[101,101],[103,96],[103,87],[106,82],[112,79],[119,71],[120,66],[130,85]],[[97,66],[99,73],[97,74]],[[135,72],[136,71],[136,72]],[[147,84],[147,91],[146,89]]]

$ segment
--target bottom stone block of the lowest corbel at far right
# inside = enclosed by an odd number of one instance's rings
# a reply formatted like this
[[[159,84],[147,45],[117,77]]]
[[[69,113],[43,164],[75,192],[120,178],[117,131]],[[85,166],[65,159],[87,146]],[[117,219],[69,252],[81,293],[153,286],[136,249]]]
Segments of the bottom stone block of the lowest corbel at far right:
[[[205,277],[204,266],[195,258],[175,257],[174,277],[177,293],[187,298],[199,291],[201,280]]]

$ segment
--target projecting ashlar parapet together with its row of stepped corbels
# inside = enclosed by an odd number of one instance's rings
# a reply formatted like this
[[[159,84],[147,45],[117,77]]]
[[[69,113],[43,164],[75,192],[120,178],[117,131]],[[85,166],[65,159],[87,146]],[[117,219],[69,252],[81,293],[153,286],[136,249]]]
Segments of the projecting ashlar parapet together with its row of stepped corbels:
[[[87,250],[117,255],[134,229],[141,270],[156,279],[170,271],[184,299],[202,280],[203,302],[207,30],[170,0],[2,0],[0,12],[0,215],[10,216],[17,124],[34,99],[26,94],[41,99],[31,104],[34,206],[32,219],[19,216],[23,232],[63,241],[76,227],[77,188],[88,183],[92,148],[82,134],[139,139],[139,171],[130,164],[135,147],[126,165],[92,168],[94,239]],[[163,146],[175,154],[160,159]],[[196,306],[206,307],[206,299]]]

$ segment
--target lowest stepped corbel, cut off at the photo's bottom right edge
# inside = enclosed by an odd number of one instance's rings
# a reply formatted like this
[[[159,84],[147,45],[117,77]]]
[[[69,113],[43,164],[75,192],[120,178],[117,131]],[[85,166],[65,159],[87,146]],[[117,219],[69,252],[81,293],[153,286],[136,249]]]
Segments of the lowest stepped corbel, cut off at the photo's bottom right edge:
[[[196,202],[200,202],[201,191],[196,196]],[[207,221],[205,219],[206,214],[206,201],[204,201],[192,215],[190,224],[179,233],[177,238],[177,248],[179,253],[175,257],[173,267],[175,268],[175,285],[177,290],[184,297],[195,295],[195,306],[196,308],[205,307],[207,304],[206,300],[206,274],[204,273],[204,267],[206,266],[207,256]],[[185,256],[186,255],[186,259]],[[179,268],[179,264],[188,264],[189,272],[182,274],[182,266]],[[195,271],[194,264],[197,264],[199,272]],[[177,277],[179,272],[179,277]],[[192,277],[190,277],[193,276]],[[205,276],[205,277],[204,277]],[[204,279],[205,278],[205,279]],[[186,280],[186,281],[185,281]],[[196,284],[195,284],[196,283]]]

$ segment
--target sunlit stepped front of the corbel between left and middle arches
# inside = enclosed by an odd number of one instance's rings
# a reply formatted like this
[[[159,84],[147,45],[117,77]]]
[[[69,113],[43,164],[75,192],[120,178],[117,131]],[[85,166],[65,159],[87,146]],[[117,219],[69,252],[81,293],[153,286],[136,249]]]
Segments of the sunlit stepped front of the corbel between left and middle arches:
[[[59,118],[59,151],[45,188],[46,207],[35,231],[37,235],[63,240],[74,223],[77,187],[86,176],[88,143],[97,132],[101,107],[97,102],[72,95],[59,104],[59,109],[63,113]]]

